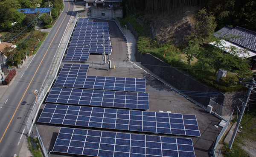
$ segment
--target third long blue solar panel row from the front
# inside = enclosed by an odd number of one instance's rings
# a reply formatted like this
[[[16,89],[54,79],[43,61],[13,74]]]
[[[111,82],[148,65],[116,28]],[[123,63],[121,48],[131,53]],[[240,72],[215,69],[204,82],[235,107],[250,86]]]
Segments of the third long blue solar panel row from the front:
[[[109,90],[52,87],[46,102],[130,109],[149,109],[148,93]]]

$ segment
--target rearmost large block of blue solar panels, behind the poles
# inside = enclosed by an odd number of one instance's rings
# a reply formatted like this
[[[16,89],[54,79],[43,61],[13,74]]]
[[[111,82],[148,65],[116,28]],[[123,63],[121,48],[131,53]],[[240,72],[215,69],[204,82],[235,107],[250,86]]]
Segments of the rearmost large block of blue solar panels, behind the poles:
[[[70,43],[64,61],[86,62],[90,53],[103,54],[104,50],[105,53],[111,54],[112,46],[108,46],[107,43],[105,48],[103,48],[103,45],[101,45],[103,44],[103,33],[105,34],[104,39],[108,40],[110,37],[108,22],[93,22],[90,19],[79,19],[72,36],[73,42]],[[102,42],[100,43],[99,41]]]

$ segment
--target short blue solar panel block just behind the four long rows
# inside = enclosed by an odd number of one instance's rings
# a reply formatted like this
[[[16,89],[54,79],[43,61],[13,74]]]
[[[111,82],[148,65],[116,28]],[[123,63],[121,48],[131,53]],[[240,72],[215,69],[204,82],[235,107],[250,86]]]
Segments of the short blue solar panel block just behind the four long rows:
[[[58,77],[84,78],[88,68],[87,64],[64,64]]]

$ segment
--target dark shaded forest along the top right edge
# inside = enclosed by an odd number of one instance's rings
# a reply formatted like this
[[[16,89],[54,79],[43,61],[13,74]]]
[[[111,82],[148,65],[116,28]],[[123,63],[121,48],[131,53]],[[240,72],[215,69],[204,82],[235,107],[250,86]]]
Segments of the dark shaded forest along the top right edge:
[[[125,14],[161,14],[183,6],[206,8],[216,17],[217,28],[225,25],[256,31],[255,0],[124,0]]]

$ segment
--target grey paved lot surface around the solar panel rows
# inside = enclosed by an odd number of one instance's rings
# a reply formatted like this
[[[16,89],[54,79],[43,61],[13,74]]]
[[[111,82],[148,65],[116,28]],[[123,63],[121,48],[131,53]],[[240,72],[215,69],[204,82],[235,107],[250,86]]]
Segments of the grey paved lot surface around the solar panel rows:
[[[125,38],[122,33],[115,26],[115,23],[110,22],[111,32],[111,45],[113,46],[113,61],[125,62],[127,57],[127,47]],[[113,36],[113,38],[112,38]],[[101,61],[102,56],[92,55],[89,57],[89,61]],[[130,64],[130,63],[129,63]],[[198,120],[198,126],[201,132],[201,137],[187,137],[192,138],[195,149],[195,155],[197,157],[209,156],[209,151],[215,139],[216,129],[214,125],[218,125],[220,120],[213,115],[210,115],[203,108],[198,107],[194,103],[187,100],[182,95],[179,95],[171,87],[167,86],[151,74],[145,72],[142,69],[134,68],[116,68],[113,67],[108,71],[106,67],[89,67],[87,75],[93,76],[115,76],[115,77],[130,77],[130,78],[145,78],[146,79],[146,92],[149,93],[149,111],[170,111],[172,113],[182,114],[194,114]],[[41,110],[44,108],[44,104],[41,105]],[[41,110],[39,114],[41,114]],[[49,125],[43,123],[36,123],[39,133],[43,139],[44,146],[47,151],[52,151],[55,140],[57,138],[60,125]],[[82,127],[79,127],[82,128]],[[221,129],[219,129],[219,132]],[[177,136],[175,136],[177,137]],[[51,157],[59,156],[73,156],[72,154],[56,154],[51,153]]]

